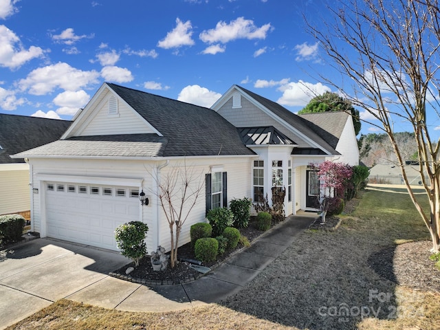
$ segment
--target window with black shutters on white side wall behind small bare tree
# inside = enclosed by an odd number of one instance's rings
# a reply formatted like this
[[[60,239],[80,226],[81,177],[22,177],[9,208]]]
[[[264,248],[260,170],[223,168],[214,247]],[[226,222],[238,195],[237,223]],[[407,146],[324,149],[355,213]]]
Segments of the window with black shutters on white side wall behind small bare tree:
[[[206,212],[228,206],[227,173],[214,172],[206,175]]]

